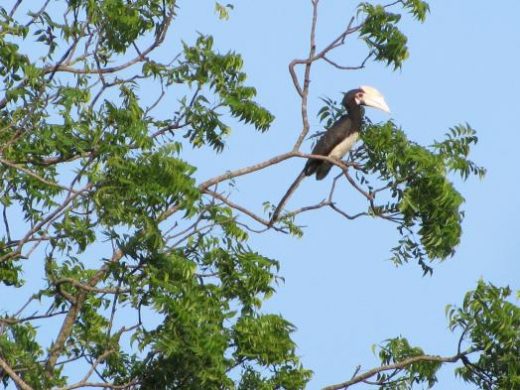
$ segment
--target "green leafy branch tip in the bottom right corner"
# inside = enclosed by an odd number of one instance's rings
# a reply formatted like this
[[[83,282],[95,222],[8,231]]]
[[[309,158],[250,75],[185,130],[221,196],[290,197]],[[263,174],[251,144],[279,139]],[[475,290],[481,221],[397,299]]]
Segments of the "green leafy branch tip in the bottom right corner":
[[[480,281],[461,307],[446,308],[450,329],[460,331],[458,351],[452,357],[426,355],[403,337],[374,347],[381,361],[375,383],[385,390],[410,389],[414,384],[432,387],[443,364],[461,362],[456,373],[479,389],[519,388],[520,307],[510,302],[510,296],[508,287]]]

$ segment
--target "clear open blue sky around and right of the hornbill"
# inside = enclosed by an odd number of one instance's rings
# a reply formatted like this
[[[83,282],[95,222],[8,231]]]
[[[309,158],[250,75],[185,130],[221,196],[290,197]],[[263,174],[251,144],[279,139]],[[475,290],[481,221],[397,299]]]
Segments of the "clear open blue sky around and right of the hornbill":
[[[335,38],[356,4],[321,1],[318,48]],[[307,53],[310,1],[236,2],[231,19],[224,23],[200,5],[187,1],[179,5],[179,33],[213,34],[222,51],[241,53],[259,102],[276,116],[266,135],[237,126],[223,156],[199,153],[201,178],[288,151],[301,122],[287,65]],[[453,258],[435,266],[432,277],[422,277],[415,264],[395,268],[387,261],[397,234],[380,220],[351,222],[321,210],[298,219],[307,226],[302,239],[271,233],[253,238],[255,248],[281,262],[285,284],[265,308],[282,313],[298,327],[298,351],[305,366],[315,372],[312,389],[349,378],[357,365],[364,369],[376,365],[371,346],[389,337],[403,335],[428,353],[453,354],[458,338],[447,329],[447,304],[461,303],[479,278],[520,288],[516,164],[520,3],[460,0],[432,1],[430,6],[424,24],[403,20],[410,59],[401,71],[374,63],[356,72],[315,66],[309,98],[311,131],[321,129],[316,117],[321,97],[337,99],[342,91],[369,84],[386,96],[391,118],[421,144],[431,144],[449,127],[468,122],[480,139],[471,157],[488,173],[482,181],[455,179],[466,198],[462,242]],[[190,33],[184,37],[189,41]],[[351,37],[334,58],[357,65],[363,58],[361,49]],[[367,113],[372,120],[387,119],[379,112]],[[304,150],[309,147],[307,142]],[[238,180],[234,200],[261,212],[263,201],[279,200],[302,164],[295,159]],[[330,181],[305,181],[287,207],[321,200],[329,185]],[[346,185],[339,195],[349,210],[362,206]],[[442,371],[438,388],[471,388],[452,371],[452,366]]]

